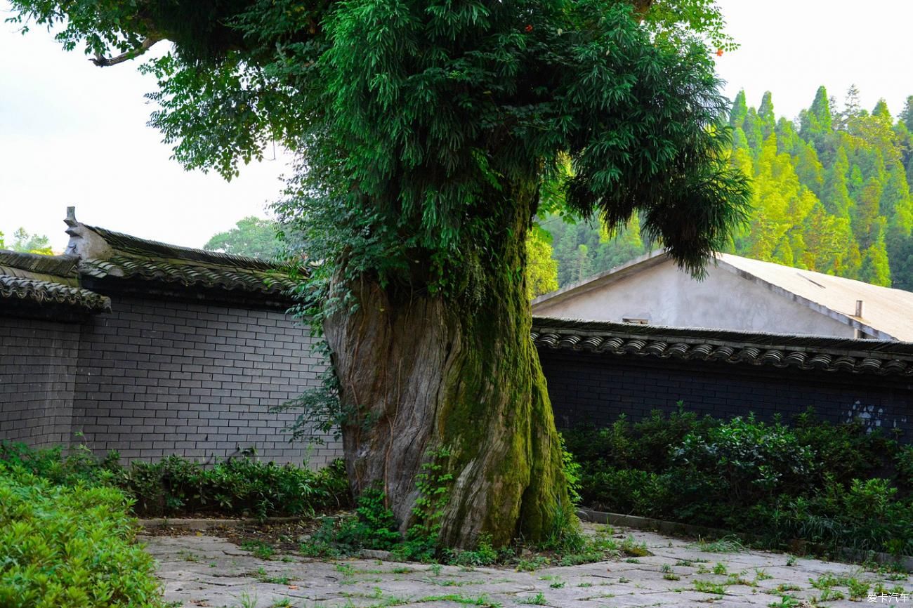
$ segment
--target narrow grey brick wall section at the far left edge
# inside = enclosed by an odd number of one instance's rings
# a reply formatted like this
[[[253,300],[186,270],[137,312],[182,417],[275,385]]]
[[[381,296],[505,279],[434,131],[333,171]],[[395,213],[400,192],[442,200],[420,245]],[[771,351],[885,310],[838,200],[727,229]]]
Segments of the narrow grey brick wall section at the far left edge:
[[[79,324],[0,316],[0,441],[68,443]]]

